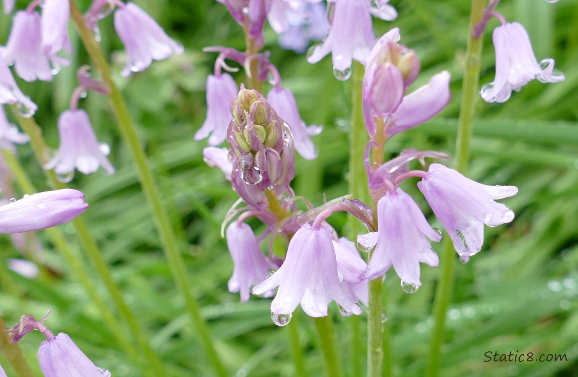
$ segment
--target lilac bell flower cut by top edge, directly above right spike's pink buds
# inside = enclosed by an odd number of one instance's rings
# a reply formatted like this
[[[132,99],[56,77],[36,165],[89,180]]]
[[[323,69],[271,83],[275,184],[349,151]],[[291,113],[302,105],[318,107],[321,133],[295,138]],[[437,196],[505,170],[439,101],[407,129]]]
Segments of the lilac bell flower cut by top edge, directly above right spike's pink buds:
[[[347,72],[353,60],[367,64],[375,45],[373,24],[365,0],[339,0],[334,7],[327,38],[314,48],[307,61],[316,63],[331,53],[335,71]]]

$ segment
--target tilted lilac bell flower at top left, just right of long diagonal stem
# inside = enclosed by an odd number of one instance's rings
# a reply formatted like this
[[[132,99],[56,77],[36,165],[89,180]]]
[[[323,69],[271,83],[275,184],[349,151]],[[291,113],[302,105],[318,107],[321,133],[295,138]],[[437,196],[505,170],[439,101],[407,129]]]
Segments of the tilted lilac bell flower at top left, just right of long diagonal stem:
[[[129,2],[114,12],[114,29],[127,50],[127,66],[121,76],[141,72],[154,60],[163,60],[184,49],[157,24],[153,17]]]

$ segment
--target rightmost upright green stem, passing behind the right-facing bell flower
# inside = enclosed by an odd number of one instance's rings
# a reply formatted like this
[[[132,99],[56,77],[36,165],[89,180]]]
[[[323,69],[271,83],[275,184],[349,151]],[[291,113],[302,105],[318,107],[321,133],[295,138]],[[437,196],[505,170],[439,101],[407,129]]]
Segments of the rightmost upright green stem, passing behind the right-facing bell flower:
[[[472,10],[468,28],[468,47],[465,56],[464,85],[460,106],[460,118],[458,119],[458,136],[456,140],[455,168],[465,172],[469,160],[469,143],[472,138],[473,118],[476,111],[476,102],[479,99],[478,87],[481,69],[481,48],[483,36],[476,39],[472,30],[484,16],[485,0],[472,0]],[[433,304],[433,317],[435,324],[429,343],[429,355],[426,369],[427,377],[437,377],[440,367],[440,346],[443,342],[444,325],[446,321],[447,307],[451,297],[453,284],[453,259],[454,250],[449,237],[444,238],[442,244],[441,273],[438,283],[435,302]]]

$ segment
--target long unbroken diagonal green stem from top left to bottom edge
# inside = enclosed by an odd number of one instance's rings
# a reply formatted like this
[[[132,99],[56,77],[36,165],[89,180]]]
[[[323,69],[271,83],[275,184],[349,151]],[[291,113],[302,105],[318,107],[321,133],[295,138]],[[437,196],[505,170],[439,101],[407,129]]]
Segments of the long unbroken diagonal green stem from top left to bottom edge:
[[[187,269],[185,267],[183,256],[179,250],[179,243],[177,242],[175,232],[171,226],[169,216],[162,204],[161,195],[158,191],[157,184],[154,181],[153,173],[149,168],[146,156],[140,146],[138,136],[136,135],[136,127],[132,123],[132,119],[128,113],[127,104],[124,101],[123,95],[113,82],[108,62],[102,54],[98,43],[94,39],[93,32],[84,24],[83,16],[76,7],[75,2],[70,0],[70,4],[71,18],[80,34],[80,39],[82,40],[84,47],[86,47],[94,66],[97,68],[102,79],[110,89],[110,94],[108,95],[110,105],[112,106],[121,134],[129,147],[132,160],[136,165],[140,184],[150,209],[153,212],[154,223],[159,232],[161,244],[168,260],[173,279],[175,279],[176,285],[181,295],[184,297],[187,311],[191,316],[192,323],[197,330],[196,332],[199,341],[205,349],[209,362],[213,365],[213,368],[219,376],[225,377],[228,373],[214,348],[208,324],[201,315],[199,302],[192,294],[191,283],[188,280]]]

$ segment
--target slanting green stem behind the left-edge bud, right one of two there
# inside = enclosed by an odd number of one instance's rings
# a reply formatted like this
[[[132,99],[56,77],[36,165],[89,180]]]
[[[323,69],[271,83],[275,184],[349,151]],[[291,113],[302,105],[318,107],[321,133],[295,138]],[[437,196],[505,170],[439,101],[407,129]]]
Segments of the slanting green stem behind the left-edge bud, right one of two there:
[[[42,138],[42,131],[38,124],[32,118],[25,118],[21,116],[15,107],[13,107],[14,115],[18,119],[18,123],[24,132],[26,132],[30,136],[30,144],[32,146],[32,150],[36,155],[36,159],[38,160],[40,165],[44,165],[47,161],[49,150],[46,146],[44,139]],[[53,189],[64,189],[65,185],[62,182],[59,182],[57,179],[56,174],[54,171],[45,170],[45,175],[48,181],[48,184]],[[25,176],[25,175],[24,175]],[[29,187],[28,191],[36,191],[30,188],[31,183],[24,182],[23,174],[17,176],[20,178],[21,182]],[[30,185],[30,186],[29,186]],[[97,243],[92,238],[92,235],[88,231],[88,227],[84,222],[82,217],[77,217],[72,222],[72,225],[75,227],[76,235],[78,236],[80,243],[82,244],[84,250],[87,253],[87,257],[91,262],[91,269],[94,269],[98,275],[101,277],[102,281],[105,283],[106,289],[109,291],[114,304],[116,305],[118,312],[120,312],[121,316],[123,316],[124,320],[128,324],[128,328],[131,330],[132,336],[134,337],[136,343],[142,348],[142,351],[146,355],[147,363],[150,364],[149,367],[145,367],[143,369],[144,375],[158,375],[159,373],[162,374],[164,368],[162,367],[161,361],[158,358],[157,354],[151,348],[147,337],[144,335],[142,329],[140,328],[138,321],[136,321],[135,316],[132,314],[131,309],[128,308],[128,305],[125,304],[123,300],[123,294],[118,288],[117,284],[114,282],[112,278],[112,273],[110,272],[110,268],[106,261],[103,259],[100,250],[98,249]],[[49,230],[50,231],[50,230]],[[60,242],[60,245],[57,245],[61,248],[63,256],[69,263],[73,263],[73,260],[76,258],[75,256],[71,256],[68,253],[68,247],[66,247],[66,243],[64,239],[59,239],[57,234],[54,234],[57,240]],[[60,237],[61,238],[61,237]],[[76,265],[76,263],[71,264]],[[85,271],[84,269],[76,270],[76,271]],[[77,273],[78,277],[81,281],[86,279],[86,276],[82,273]],[[91,282],[87,282],[88,286],[91,285]],[[89,288],[91,289],[91,288]],[[114,319],[113,319],[114,320]],[[123,333],[125,331],[121,330]],[[131,353],[131,348],[129,347],[127,350]],[[139,361],[139,364],[142,363],[142,360]]]

